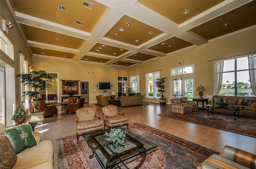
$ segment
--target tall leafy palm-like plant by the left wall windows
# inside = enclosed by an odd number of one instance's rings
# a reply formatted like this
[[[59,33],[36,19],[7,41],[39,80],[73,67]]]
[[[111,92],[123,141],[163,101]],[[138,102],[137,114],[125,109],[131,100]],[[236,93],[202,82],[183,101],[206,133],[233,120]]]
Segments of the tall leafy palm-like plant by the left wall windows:
[[[38,100],[42,91],[50,88],[50,82],[56,81],[55,78],[51,77],[46,71],[32,71],[28,74],[17,75],[20,77],[21,82],[28,86],[30,90],[24,91],[24,96],[29,96],[30,100],[35,99],[35,111],[39,112],[40,106],[38,105]]]

